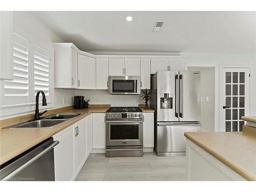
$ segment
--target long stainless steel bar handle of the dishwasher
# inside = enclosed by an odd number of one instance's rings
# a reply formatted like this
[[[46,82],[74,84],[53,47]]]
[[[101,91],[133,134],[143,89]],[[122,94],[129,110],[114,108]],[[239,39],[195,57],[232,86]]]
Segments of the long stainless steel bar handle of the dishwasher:
[[[30,159],[29,161],[27,161],[26,163],[24,163],[22,166],[18,167],[17,169],[15,169],[12,173],[10,173],[8,176],[6,176],[5,178],[3,178],[3,181],[8,181],[10,178],[12,178],[13,176],[15,176],[16,174],[18,174],[19,172],[21,172],[24,168],[26,168],[27,166],[29,166],[31,163],[33,163],[34,161],[36,161],[37,159],[39,159],[41,156],[45,155],[47,152],[49,152],[50,150],[53,149],[53,147],[55,147],[57,144],[59,144],[59,141],[54,141],[52,144],[50,144],[49,147],[47,147],[44,151],[40,152],[39,154],[37,154],[35,157],[33,157],[32,159]]]

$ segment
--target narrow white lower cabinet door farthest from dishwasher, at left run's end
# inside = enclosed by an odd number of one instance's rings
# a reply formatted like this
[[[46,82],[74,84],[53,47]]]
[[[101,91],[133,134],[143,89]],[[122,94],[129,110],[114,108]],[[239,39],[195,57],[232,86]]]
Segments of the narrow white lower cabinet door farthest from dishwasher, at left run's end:
[[[93,115],[89,115],[86,122],[86,153],[89,157],[93,148]]]

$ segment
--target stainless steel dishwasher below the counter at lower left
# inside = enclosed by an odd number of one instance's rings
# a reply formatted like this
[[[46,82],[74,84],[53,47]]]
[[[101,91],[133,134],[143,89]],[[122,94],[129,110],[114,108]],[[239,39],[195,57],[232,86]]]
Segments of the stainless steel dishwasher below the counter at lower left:
[[[59,141],[49,138],[30,150],[0,165],[4,181],[54,181],[54,146]]]

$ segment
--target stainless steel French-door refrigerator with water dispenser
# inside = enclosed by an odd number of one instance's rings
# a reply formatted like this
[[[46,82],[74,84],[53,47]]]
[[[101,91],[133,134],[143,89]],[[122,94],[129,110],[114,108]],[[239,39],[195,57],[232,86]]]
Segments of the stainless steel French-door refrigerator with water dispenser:
[[[151,108],[155,110],[155,152],[185,155],[185,132],[200,131],[199,71],[158,71],[151,77]]]

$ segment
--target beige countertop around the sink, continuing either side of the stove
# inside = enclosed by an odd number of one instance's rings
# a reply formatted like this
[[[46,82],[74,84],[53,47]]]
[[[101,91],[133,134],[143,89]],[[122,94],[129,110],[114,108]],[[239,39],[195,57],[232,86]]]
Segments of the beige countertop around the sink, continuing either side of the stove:
[[[66,108],[50,110],[45,114],[45,116],[50,114],[72,114],[80,113],[81,115],[74,117],[72,119],[66,120],[63,123],[49,129],[0,129],[0,164],[3,164],[10,159],[16,157],[17,155],[29,150],[29,148],[35,146],[36,144],[44,141],[45,139],[55,135],[66,127],[72,125],[78,120],[92,114],[92,113],[105,113],[109,109],[108,105],[101,105],[95,107],[90,107],[84,110],[72,109],[72,106]],[[154,110],[142,109],[143,113],[154,112]],[[25,122],[32,119],[32,115],[25,115],[10,119],[5,119],[0,121],[0,128],[9,126],[12,124],[17,124],[20,122]]]

